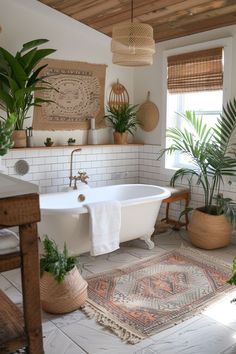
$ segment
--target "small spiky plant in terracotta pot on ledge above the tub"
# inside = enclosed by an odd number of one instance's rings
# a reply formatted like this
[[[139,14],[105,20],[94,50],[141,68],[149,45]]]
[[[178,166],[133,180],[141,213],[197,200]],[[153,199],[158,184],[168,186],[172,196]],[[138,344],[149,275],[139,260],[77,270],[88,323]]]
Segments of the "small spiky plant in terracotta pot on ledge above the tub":
[[[107,107],[105,118],[114,129],[115,144],[127,144],[128,133],[134,135],[137,126],[140,125],[137,118],[137,105],[123,104],[118,108]]]

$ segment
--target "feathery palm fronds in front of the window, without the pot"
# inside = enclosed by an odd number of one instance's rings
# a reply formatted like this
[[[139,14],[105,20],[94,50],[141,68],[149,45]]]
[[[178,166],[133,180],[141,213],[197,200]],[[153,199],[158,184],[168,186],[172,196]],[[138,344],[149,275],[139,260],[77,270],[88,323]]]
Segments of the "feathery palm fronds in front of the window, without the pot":
[[[187,178],[189,183],[196,178],[204,192],[204,207],[201,211],[220,215],[225,214],[231,221],[236,220],[235,203],[221,194],[224,176],[236,176],[235,144],[233,135],[236,132],[236,100],[229,101],[218,118],[215,128],[209,128],[201,117],[194,112],[180,114],[188,127],[167,129],[167,137],[171,139],[164,153],[181,153],[191,159],[192,167],[178,169],[172,179],[174,185],[178,179]]]

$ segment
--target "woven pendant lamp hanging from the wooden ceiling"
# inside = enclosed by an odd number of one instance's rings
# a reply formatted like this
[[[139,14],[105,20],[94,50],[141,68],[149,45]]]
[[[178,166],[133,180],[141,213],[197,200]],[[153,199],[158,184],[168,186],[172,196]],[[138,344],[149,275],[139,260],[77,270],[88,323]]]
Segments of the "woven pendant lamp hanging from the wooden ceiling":
[[[145,23],[133,22],[133,0],[131,0],[131,22],[113,26],[111,51],[112,62],[122,66],[152,65],[155,53],[153,28]]]

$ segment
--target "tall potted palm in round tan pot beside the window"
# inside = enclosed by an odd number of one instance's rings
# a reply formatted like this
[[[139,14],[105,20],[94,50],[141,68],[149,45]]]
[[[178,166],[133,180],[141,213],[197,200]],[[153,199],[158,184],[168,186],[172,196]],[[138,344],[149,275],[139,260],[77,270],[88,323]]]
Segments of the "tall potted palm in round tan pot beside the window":
[[[232,223],[236,220],[236,204],[224,198],[221,186],[224,176],[236,176],[235,144],[232,136],[236,131],[236,100],[223,108],[215,128],[208,128],[194,112],[181,114],[188,127],[167,129],[171,145],[164,153],[181,153],[191,159],[192,167],[178,169],[171,179],[187,178],[203,189],[204,205],[193,211],[188,226],[191,242],[204,249],[226,246],[231,237]],[[184,211],[184,212],[188,212]]]

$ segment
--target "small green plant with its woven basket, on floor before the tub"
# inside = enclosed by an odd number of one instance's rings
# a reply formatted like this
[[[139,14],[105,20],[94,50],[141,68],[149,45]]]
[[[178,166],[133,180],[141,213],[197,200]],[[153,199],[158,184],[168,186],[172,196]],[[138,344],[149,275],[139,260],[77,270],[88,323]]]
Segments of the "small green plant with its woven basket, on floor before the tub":
[[[40,258],[40,293],[46,312],[62,314],[81,307],[87,299],[87,282],[76,267],[75,257],[68,255],[66,244],[60,251],[55,241],[45,236],[44,254]]]

